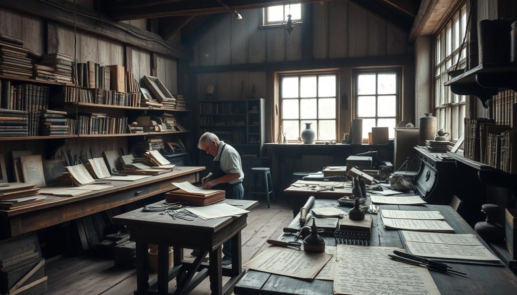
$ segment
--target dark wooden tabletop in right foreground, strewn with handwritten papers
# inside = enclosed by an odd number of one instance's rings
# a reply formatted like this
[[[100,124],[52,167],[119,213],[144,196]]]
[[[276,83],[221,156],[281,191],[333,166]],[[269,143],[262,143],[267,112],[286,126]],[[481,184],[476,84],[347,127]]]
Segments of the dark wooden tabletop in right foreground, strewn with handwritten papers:
[[[338,206],[336,200],[317,199],[313,208]],[[338,206],[344,211],[349,208]],[[426,205],[426,206],[401,206],[379,205],[381,209],[392,210],[419,210],[439,211],[445,217],[449,225],[454,228],[456,234],[476,234],[472,228],[450,206]],[[293,220],[291,226],[298,226],[298,217]],[[478,236],[476,234],[476,236]],[[294,236],[281,235],[281,240],[292,241]],[[486,246],[486,243],[478,236],[478,239]],[[327,245],[335,246],[334,239],[327,239]],[[379,215],[373,215],[372,246],[402,247],[402,241],[398,230],[384,229]],[[488,247],[490,249],[490,247]],[[436,271],[430,271],[436,286],[442,295],[447,294],[515,294],[517,290],[517,277],[506,267],[453,264],[454,270],[465,272],[468,276],[457,276]],[[365,261],[364,267],[374,268],[375,261]],[[297,278],[269,274],[265,272],[249,270],[242,280],[235,286],[237,295],[254,294],[299,294],[299,295],[332,295],[332,281],[312,280],[304,281]]]

